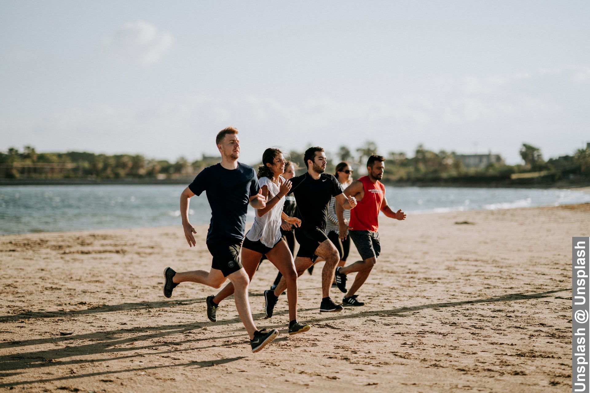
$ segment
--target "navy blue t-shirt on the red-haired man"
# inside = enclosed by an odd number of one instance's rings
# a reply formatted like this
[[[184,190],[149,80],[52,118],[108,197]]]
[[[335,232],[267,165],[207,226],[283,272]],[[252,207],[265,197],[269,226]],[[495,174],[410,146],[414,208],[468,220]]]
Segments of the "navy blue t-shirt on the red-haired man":
[[[260,190],[253,167],[238,163],[238,167],[231,170],[221,163],[215,164],[196,175],[188,188],[195,195],[207,193],[211,206],[207,244],[244,239],[250,197]]]

